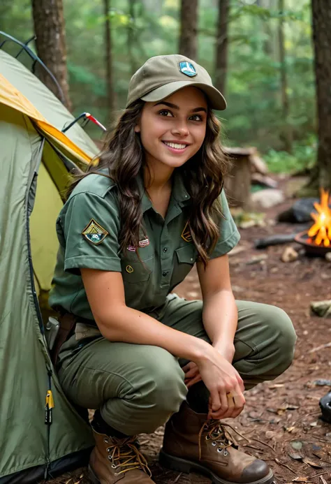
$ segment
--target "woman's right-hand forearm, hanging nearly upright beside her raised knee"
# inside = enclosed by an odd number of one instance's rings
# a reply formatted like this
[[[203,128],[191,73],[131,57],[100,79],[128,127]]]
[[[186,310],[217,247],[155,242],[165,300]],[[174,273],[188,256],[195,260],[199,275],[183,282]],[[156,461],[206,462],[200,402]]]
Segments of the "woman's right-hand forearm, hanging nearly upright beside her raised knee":
[[[237,321],[237,305],[232,291],[219,291],[203,301],[203,325],[207,335],[212,345],[231,361]]]

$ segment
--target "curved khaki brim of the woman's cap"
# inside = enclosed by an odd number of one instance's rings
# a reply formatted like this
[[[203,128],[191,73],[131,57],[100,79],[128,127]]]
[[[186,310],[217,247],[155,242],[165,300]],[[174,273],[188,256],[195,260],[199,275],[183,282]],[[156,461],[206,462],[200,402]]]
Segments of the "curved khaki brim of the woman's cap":
[[[220,111],[226,109],[226,100],[216,87],[204,84],[203,82],[194,82],[193,80],[168,82],[168,84],[157,87],[153,91],[148,92],[145,96],[142,96],[141,99],[142,101],[147,102],[161,101],[179,91],[179,89],[183,89],[183,87],[187,86],[198,87],[198,89],[201,89],[208,98],[210,108]]]

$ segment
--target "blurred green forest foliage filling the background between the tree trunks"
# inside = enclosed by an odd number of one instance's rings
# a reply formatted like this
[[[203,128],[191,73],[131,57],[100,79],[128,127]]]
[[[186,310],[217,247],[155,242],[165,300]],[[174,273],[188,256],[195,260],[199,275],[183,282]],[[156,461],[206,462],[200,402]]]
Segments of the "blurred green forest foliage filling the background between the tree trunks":
[[[105,42],[103,0],[63,0],[68,72],[74,114],[89,111],[103,124]],[[133,72],[149,57],[177,52],[180,0],[111,0],[112,65],[117,110],[126,102]],[[228,145],[255,145],[272,170],[296,170],[314,161],[316,101],[311,46],[310,0],[278,0],[270,8],[230,1],[226,84],[228,109],[223,137]],[[216,0],[199,0],[198,59],[214,75]],[[264,3],[265,4],[265,3]],[[283,119],[279,64],[279,19],[284,21],[290,115]],[[5,21],[6,19],[6,21]],[[33,34],[29,0],[1,0],[0,29],[21,41]],[[132,39],[129,44],[129,39]],[[15,50],[17,52],[17,50]],[[293,133],[293,154],[286,154],[281,133]]]

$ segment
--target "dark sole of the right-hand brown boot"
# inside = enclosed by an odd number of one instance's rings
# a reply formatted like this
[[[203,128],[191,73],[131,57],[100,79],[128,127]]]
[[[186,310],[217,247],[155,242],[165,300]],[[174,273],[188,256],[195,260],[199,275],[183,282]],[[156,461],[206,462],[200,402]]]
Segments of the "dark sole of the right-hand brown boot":
[[[190,460],[181,459],[180,457],[174,457],[173,455],[166,454],[162,449],[160,450],[159,462],[162,467],[166,469],[172,469],[172,471],[184,472],[184,474],[190,474],[190,472],[196,471],[198,474],[203,474],[203,476],[212,479],[212,484],[240,484],[234,481],[226,481],[226,479],[221,479],[216,476],[212,471],[209,471],[206,467],[198,464],[197,462],[191,462]],[[247,484],[271,484],[274,482],[274,474],[272,470],[267,476],[258,481],[251,481]]]

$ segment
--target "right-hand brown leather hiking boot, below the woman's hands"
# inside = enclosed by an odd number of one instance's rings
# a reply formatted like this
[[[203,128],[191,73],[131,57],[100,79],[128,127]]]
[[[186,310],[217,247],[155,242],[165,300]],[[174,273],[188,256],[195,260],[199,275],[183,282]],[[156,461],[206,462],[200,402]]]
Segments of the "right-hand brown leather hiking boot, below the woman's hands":
[[[207,420],[205,413],[194,412],[184,402],[165,425],[161,466],[205,474],[213,484],[272,483],[271,469],[263,460],[237,450],[228,427],[220,420]]]

